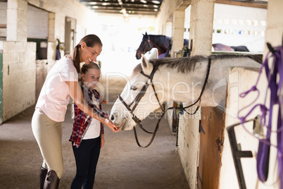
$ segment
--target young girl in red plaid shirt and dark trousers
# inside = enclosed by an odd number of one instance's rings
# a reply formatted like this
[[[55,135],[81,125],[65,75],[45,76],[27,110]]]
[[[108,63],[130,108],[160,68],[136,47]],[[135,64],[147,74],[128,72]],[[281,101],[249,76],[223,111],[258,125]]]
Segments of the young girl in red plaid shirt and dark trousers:
[[[94,90],[95,85],[99,83],[101,74],[99,66],[92,62],[84,64],[81,73],[80,87],[84,99],[97,114],[104,116],[106,113],[101,111],[103,97]],[[104,145],[103,124],[77,109],[76,104],[74,104],[74,114],[73,133],[70,141],[73,144],[77,173],[70,188],[80,189],[82,185],[84,185],[84,189],[93,188],[96,164],[99,160],[100,149]]]

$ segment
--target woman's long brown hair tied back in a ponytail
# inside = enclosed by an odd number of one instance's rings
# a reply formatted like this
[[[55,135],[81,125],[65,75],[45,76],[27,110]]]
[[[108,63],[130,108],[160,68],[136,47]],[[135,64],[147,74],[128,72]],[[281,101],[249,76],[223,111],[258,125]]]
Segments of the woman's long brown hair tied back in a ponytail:
[[[75,48],[73,49],[73,61],[74,61],[74,66],[77,70],[77,73],[81,73],[80,72],[80,46],[82,42],[85,42],[87,44],[87,47],[94,47],[95,44],[100,44],[102,47],[101,40],[99,39],[99,37],[97,37],[94,34],[86,35],[80,40],[79,44],[77,44]]]

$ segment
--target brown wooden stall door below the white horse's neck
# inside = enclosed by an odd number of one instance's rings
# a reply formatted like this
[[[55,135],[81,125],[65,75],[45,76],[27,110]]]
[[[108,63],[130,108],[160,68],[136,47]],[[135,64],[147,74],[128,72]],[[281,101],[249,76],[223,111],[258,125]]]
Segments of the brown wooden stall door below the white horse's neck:
[[[220,180],[225,113],[216,107],[202,107],[201,112],[197,188],[217,189]]]

